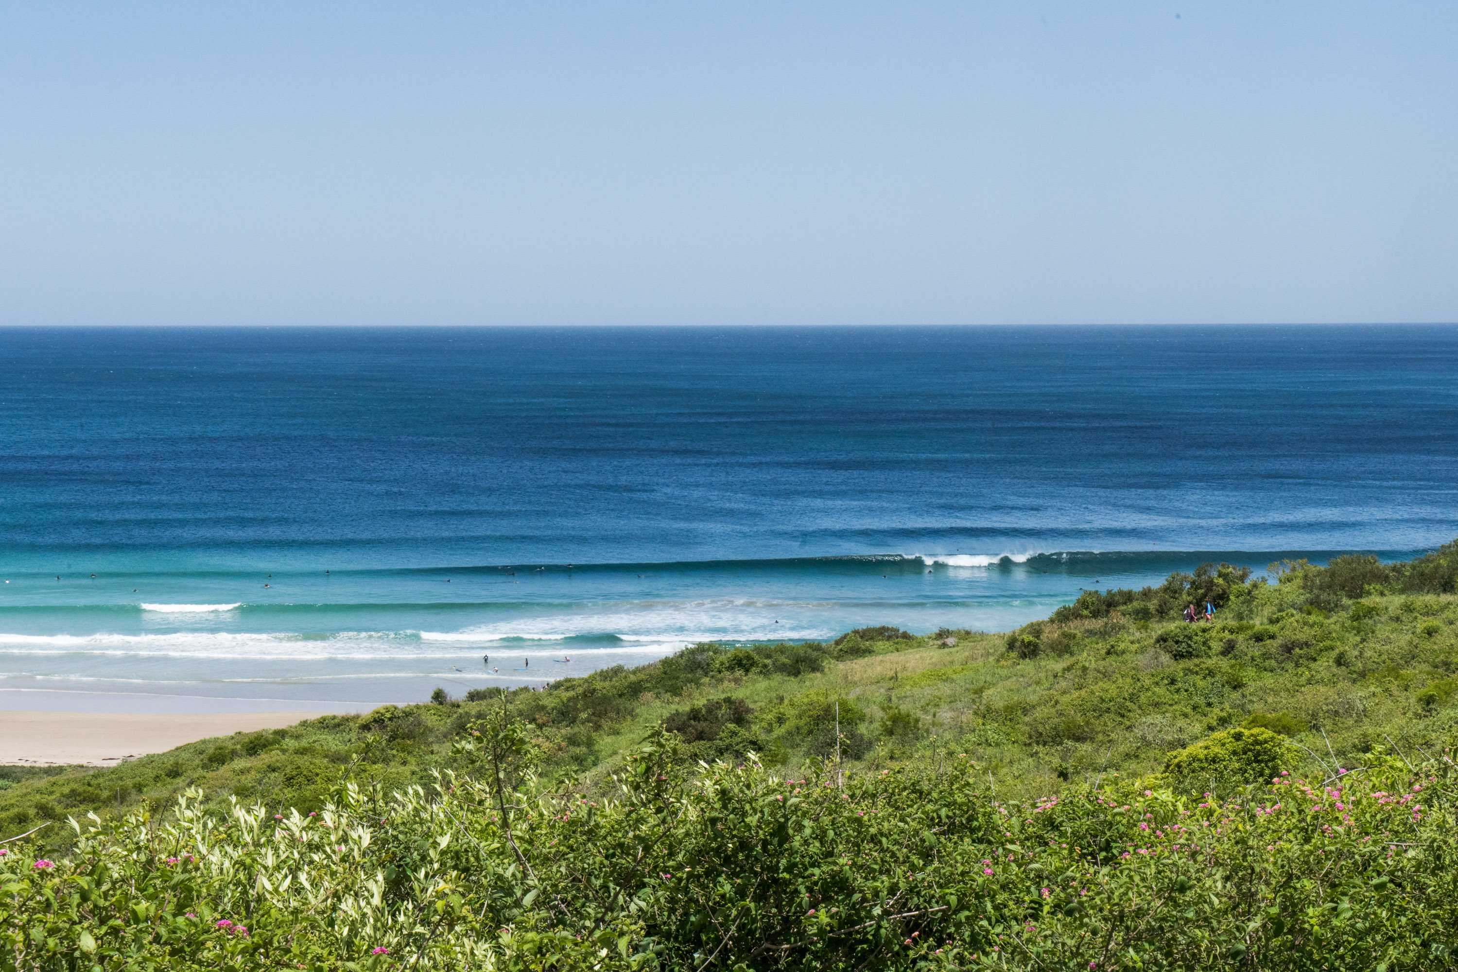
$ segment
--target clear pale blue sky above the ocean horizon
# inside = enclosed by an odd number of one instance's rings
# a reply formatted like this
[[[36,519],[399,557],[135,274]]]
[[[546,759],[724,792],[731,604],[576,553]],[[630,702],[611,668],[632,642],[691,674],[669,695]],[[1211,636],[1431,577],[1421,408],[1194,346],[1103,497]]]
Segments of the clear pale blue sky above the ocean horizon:
[[[9,3],[0,324],[1458,319],[1458,4]]]

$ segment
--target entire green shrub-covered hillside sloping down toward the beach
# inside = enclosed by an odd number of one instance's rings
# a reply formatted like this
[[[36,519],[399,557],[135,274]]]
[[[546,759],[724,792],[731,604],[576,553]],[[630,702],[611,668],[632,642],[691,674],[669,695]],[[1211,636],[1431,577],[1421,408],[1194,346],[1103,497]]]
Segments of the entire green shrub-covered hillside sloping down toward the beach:
[[[701,644],[0,769],[0,965],[1452,968],[1455,730],[1458,542]]]

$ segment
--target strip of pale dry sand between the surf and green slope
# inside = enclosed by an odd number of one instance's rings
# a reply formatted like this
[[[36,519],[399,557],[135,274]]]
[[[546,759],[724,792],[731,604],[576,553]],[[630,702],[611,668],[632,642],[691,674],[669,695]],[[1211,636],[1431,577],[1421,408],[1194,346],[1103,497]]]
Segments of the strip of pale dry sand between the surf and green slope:
[[[255,729],[292,726],[322,713],[55,713],[0,711],[0,764],[85,764],[124,759]]]

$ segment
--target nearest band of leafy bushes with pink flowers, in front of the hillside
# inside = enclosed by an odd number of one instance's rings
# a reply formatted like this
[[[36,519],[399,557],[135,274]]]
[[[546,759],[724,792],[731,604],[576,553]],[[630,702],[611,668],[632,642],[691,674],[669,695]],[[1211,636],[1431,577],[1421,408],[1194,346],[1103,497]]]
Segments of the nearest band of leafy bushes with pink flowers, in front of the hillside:
[[[490,721],[490,720],[488,720]],[[1229,800],[1069,787],[1000,801],[949,767],[687,775],[672,737],[612,797],[545,788],[497,717],[477,780],[341,787],[316,815],[179,800],[0,857],[6,968],[1452,968],[1452,768],[1276,775]],[[1260,732],[1260,730],[1250,730]],[[497,742],[490,742],[497,740]],[[1392,836],[1401,834],[1394,847]]]

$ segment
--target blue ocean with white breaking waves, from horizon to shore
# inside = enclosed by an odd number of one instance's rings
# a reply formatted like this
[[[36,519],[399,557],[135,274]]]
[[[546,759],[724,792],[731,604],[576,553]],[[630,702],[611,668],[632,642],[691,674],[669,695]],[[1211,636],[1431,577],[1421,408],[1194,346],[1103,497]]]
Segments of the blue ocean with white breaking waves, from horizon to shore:
[[[413,701],[1458,536],[1454,326],[0,329],[0,364],[9,707]]]

